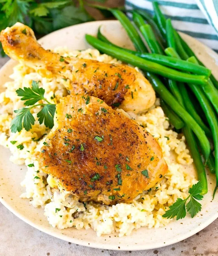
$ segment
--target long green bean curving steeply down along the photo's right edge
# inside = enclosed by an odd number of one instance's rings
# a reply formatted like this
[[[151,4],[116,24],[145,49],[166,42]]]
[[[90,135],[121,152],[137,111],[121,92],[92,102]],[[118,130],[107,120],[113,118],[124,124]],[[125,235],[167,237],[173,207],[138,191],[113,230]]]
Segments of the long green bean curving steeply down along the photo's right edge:
[[[197,99],[205,113],[205,116],[209,123],[210,129],[212,131],[213,141],[214,141],[214,151],[215,151],[215,175],[216,175],[216,181],[218,184],[218,121],[217,121],[217,117],[212,108],[212,105],[210,104],[207,97],[204,95],[202,89],[199,86],[195,86],[194,84],[192,84],[189,87],[194,92],[195,96],[197,97]],[[216,189],[217,189],[217,186],[215,187],[214,195],[215,195]]]

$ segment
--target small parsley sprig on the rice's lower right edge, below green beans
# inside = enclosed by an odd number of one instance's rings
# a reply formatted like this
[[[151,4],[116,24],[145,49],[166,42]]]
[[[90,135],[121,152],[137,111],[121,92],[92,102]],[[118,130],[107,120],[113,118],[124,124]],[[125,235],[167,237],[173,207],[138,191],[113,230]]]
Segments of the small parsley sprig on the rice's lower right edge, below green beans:
[[[167,219],[172,219],[176,216],[176,220],[183,219],[186,216],[186,210],[193,218],[201,210],[201,204],[197,200],[202,200],[202,184],[199,181],[189,188],[189,196],[186,199],[178,198],[176,202],[169,206],[169,210],[162,216]],[[189,202],[186,204],[186,202]]]

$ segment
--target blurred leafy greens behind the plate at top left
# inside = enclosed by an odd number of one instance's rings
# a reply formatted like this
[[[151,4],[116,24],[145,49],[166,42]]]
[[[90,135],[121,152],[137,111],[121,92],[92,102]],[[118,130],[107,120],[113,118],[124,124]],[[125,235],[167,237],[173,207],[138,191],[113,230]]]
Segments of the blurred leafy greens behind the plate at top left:
[[[63,27],[110,18],[106,9],[123,5],[124,0],[0,0],[0,31],[22,22],[39,37]],[[0,51],[3,56],[1,45]]]

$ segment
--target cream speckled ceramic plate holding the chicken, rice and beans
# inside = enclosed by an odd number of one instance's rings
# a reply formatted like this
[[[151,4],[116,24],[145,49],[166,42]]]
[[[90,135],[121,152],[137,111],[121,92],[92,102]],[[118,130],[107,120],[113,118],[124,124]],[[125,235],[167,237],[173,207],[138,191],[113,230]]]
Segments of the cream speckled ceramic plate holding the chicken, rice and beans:
[[[118,21],[96,21],[67,27],[43,37],[39,42],[45,48],[67,46],[74,50],[83,50],[89,47],[84,40],[84,35],[86,33],[95,35],[100,25],[102,25],[103,34],[105,34],[111,41],[120,46],[132,48],[132,44],[129,41],[127,34]],[[204,62],[208,68],[212,69],[213,73],[217,76],[218,66],[215,62],[218,61],[218,55],[196,39],[185,34],[181,35],[202,62]],[[15,61],[10,60],[0,70],[1,91],[4,90],[2,85],[9,80],[8,75],[12,73],[12,68],[15,64]],[[183,220],[172,221],[168,226],[158,229],[147,229],[146,227],[143,227],[134,230],[131,236],[124,236],[121,238],[119,238],[117,234],[97,237],[92,229],[77,230],[68,228],[58,230],[49,226],[46,217],[43,215],[44,210],[41,208],[34,208],[29,204],[29,199],[19,198],[20,194],[24,192],[23,188],[20,186],[20,182],[24,179],[26,167],[11,163],[9,157],[9,150],[0,147],[1,203],[31,226],[50,234],[51,236],[72,243],[110,250],[146,250],[158,248],[179,242],[192,236],[208,226],[218,217],[218,195],[216,195],[216,198],[212,201],[215,177],[208,174],[208,193],[202,201],[202,211],[193,219],[187,216]]]

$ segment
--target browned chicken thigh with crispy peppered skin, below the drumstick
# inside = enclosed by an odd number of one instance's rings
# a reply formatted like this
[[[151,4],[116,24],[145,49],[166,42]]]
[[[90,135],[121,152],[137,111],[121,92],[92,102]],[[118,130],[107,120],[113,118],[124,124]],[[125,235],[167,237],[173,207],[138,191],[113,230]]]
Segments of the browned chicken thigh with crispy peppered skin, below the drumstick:
[[[81,201],[131,202],[167,171],[153,136],[96,97],[68,95],[39,155],[43,172]]]

